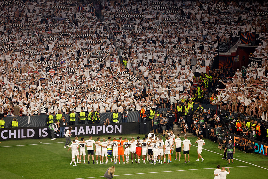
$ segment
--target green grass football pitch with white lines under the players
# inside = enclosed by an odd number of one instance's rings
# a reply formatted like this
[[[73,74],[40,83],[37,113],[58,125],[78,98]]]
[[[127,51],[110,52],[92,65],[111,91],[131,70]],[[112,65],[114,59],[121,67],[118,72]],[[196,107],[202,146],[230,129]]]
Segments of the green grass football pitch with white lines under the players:
[[[122,137],[144,135],[122,135]],[[96,141],[97,137],[106,138],[108,136],[93,136]],[[111,135],[111,138],[119,138],[119,135]],[[184,140],[183,136],[181,136]],[[71,138],[71,140],[74,137]],[[85,140],[88,136],[85,137]],[[70,165],[71,150],[63,148],[64,138],[51,139],[31,139],[31,140],[13,140],[2,141],[0,143],[0,178],[66,178],[66,179],[86,179],[86,178],[104,178],[103,175],[107,168],[115,166],[115,179],[123,178],[214,178],[214,169],[218,164],[227,167],[228,161],[223,160],[223,150],[217,149],[217,143],[204,139],[206,145],[203,146],[201,153],[205,159],[197,162],[197,144],[194,143],[196,137],[188,137],[191,141],[190,163],[184,163],[184,155],[181,155],[181,161],[176,161],[175,150],[172,155],[171,163],[146,164],[128,163],[114,164],[108,159],[107,164],[90,164],[77,163],[77,166]],[[80,140],[80,138],[79,138]],[[87,151],[87,150],[86,150]],[[95,157],[96,155],[94,155]],[[179,156],[178,156],[179,158]],[[105,160],[104,160],[105,161]],[[131,162],[131,158],[129,159]],[[86,163],[88,162],[86,156]],[[95,158],[96,162],[96,158]],[[118,161],[117,161],[118,162]],[[257,154],[246,154],[239,150],[235,151],[234,163],[228,166],[230,174],[227,178],[268,178],[268,160],[267,157]]]

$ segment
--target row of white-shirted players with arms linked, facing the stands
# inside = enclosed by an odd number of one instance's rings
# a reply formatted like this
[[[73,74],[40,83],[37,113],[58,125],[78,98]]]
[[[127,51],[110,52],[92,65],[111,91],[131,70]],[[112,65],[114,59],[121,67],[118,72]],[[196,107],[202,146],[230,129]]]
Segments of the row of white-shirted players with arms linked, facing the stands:
[[[135,163],[140,163],[140,158],[143,160],[143,163],[146,164],[146,156],[147,161],[149,161],[150,164],[156,164],[158,161],[158,164],[166,163],[166,155],[167,155],[167,163],[172,162],[171,155],[173,154],[174,148],[176,152],[176,158],[175,160],[180,161],[180,152],[181,152],[181,143],[183,143],[182,150],[185,157],[185,163],[187,163],[186,155],[188,155],[188,162],[190,162],[189,159],[189,150],[191,147],[190,140],[187,139],[187,136],[184,136],[184,141],[180,139],[180,135],[177,135],[177,138],[175,138],[175,135],[173,131],[171,130],[170,133],[168,133],[168,130],[166,131],[165,136],[166,141],[164,142],[160,135],[155,136],[154,133],[150,132],[148,135],[145,135],[143,139],[141,139],[139,136],[137,139],[134,139],[133,137],[131,140],[127,140],[127,138],[122,139],[122,137],[119,137],[119,140],[116,138],[113,138],[111,140],[111,137],[108,137],[108,140],[105,138],[100,139],[100,137],[97,138],[97,141],[92,140],[92,136],[89,136],[88,140],[84,140],[84,138],[81,138],[81,141],[78,140],[78,137],[75,137],[71,145],[67,145],[69,147],[68,151],[71,149],[72,153],[72,161],[70,164],[74,162],[74,166],[77,166],[76,163],[81,163],[81,157],[83,155],[83,163],[85,162],[85,147],[87,147],[88,150],[88,164],[90,164],[90,156],[92,159],[92,164],[95,164],[94,162],[94,151],[96,155],[96,163],[98,164],[98,159],[100,164],[108,163],[108,157],[110,157],[110,161],[114,162],[114,164],[117,163],[117,160],[120,164],[120,159],[122,156],[123,163],[129,163],[129,156],[131,156],[131,163],[133,163],[133,158],[135,159]],[[205,145],[205,142],[202,140],[202,135],[199,136],[197,141],[195,143],[198,143],[198,159],[201,157],[202,162],[203,158],[200,155],[202,152],[202,146]],[[80,148],[80,152],[79,152]],[[177,155],[179,154],[179,158],[177,159]],[[75,158],[77,156],[77,162],[75,162]],[[113,157],[112,157],[113,156]],[[126,161],[125,158],[126,157]],[[105,158],[104,158],[105,157]],[[163,161],[164,158],[164,161]],[[79,160],[79,161],[78,161]]]

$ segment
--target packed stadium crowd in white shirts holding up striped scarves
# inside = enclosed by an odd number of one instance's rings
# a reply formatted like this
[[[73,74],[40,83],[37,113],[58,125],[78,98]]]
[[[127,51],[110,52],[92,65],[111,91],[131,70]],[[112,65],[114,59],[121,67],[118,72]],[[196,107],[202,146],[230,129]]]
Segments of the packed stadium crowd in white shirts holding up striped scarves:
[[[125,109],[153,120],[173,107],[182,133],[199,135],[220,124],[216,111],[189,110],[202,103],[262,118],[256,138],[267,139],[265,11],[264,1],[2,1],[0,116]],[[261,38],[260,69],[211,68],[219,43],[248,32]]]

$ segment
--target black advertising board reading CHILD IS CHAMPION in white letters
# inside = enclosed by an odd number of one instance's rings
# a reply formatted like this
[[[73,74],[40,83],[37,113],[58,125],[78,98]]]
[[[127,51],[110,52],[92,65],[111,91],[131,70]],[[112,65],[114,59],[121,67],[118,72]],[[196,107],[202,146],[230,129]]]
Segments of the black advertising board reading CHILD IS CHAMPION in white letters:
[[[71,131],[73,136],[89,136],[89,135],[119,135],[119,134],[138,134],[140,133],[140,123],[112,123],[105,126],[104,124],[88,124],[88,125],[72,125]],[[64,134],[68,130],[65,127]],[[4,128],[1,129],[1,141],[18,140],[18,139],[38,139],[51,138],[51,132],[48,126],[43,127],[20,127],[20,128]],[[59,136],[58,134],[55,134]]]

